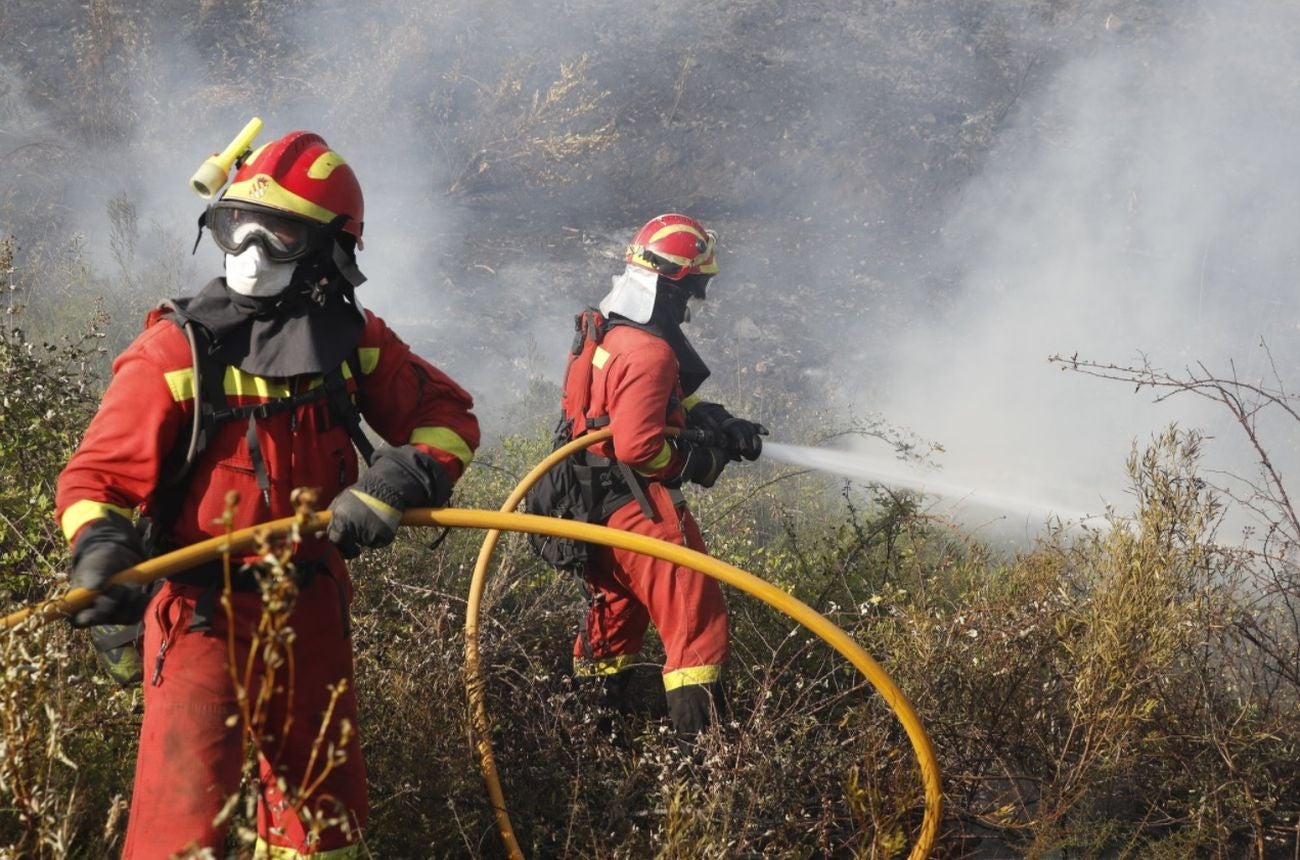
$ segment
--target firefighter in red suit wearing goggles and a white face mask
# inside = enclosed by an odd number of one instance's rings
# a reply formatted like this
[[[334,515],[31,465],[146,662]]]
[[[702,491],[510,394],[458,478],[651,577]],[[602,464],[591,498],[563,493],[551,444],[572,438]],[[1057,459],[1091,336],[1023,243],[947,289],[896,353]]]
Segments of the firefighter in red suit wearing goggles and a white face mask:
[[[135,513],[164,524],[164,547],[221,534],[230,491],[235,529],[292,514],[295,487],[316,488],[333,513],[328,535],[307,535],[292,559],[291,673],[268,672],[261,648],[250,657],[263,595],[238,559],[230,621],[217,565],[172,577],[152,595],[110,587],[73,618],[78,627],[125,624],[143,611],[144,717],[125,857],[186,848],[225,856],[222,811],[239,791],[250,742],[231,657],[235,666],[252,660],[251,700],[261,678],[277,686],[255,739],[255,856],[360,856],[368,803],[343,557],[391,542],[407,507],[445,505],[478,444],[471,396],[358,303],[361,223],[356,177],[318,135],[296,131],[250,153],[200,218],[226,255],[225,277],[150,314],[60,475],[72,582],[94,590],[143,559]],[[169,469],[207,405],[199,369],[213,366],[228,420],[202,427],[208,438],[177,492]],[[360,479],[356,434],[334,400],[313,396],[329,379],[342,379],[342,400],[387,443]],[[317,737],[342,753],[328,768]]]

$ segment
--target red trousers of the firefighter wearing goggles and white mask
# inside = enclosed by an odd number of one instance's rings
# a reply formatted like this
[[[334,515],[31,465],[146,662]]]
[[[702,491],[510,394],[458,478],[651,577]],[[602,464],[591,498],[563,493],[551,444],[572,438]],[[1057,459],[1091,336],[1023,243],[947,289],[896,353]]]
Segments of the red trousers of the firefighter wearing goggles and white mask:
[[[367,786],[347,625],[351,585],[341,561],[330,568],[296,596],[287,618],[292,644],[269,652],[260,594],[231,595],[233,639],[213,590],[165,582],[153,598],[124,857],[164,860],[187,846],[225,856],[229,815],[221,813],[239,792],[250,744],[259,753],[261,841],[299,855],[342,848],[334,855],[341,856],[359,839]],[[190,629],[196,607],[200,614],[212,607],[211,630]],[[231,653],[247,685],[246,705],[231,677]],[[272,692],[259,704],[268,679]]]

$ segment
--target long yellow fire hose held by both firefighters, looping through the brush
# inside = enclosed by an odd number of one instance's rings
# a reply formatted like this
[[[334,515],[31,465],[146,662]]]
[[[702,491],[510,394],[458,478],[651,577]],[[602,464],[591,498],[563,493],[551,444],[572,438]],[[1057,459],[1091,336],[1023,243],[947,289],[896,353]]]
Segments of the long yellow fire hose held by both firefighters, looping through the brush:
[[[560,448],[552,456],[558,456],[564,452]],[[545,465],[545,464],[542,464]],[[545,469],[540,465],[529,478],[533,475],[540,475]],[[549,468],[549,466],[547,466]],[[525,478],[526,479],[526,478]],[[534,478],[536,479],[536,478]],[[523,486],[523,485],[521,485]],[[526,491],[526,488],[525,488]],[[519,492],[519,491],[516,491]],[[523,492],[519,492],[523,496]],[[516,500],[517,504],[517,500]],[[174,573],[181,573],[195,565],[218,559],[228,552],[238,552],[252,546],[257,535],[266,530],[287,530],[287,529],[303,529],[307,531],[321,531],[329,525],[330,513],[328,511],[315,513],[306,517],[283,517],[281,520],[273,520],[257,526],[250,526],[247,529],[239,529],[229,535],[220,535],[216,538],[209,538],[188,547],[183,547],[174,552],[169,552],[156,559],[150,559],[142,561],[138,565],[127,568],[117,573],[110,581],[110,585],[146,585],[159,579],[161,577],[172,575]],[[909,855],[911,860],[919,860],[930,855],[930,850],[935,843],[935,838],[939,833],[939,815],[942,805],[942,790],[939,781],[939,764],[935,759],[933,747],[930,743],[930,738],[926,735],[924,729],[920,725],[920,720],[916,717],[915,711],[913,711],[911,704],[902,695],[893,681],[880,669],[880,666],[863,651],[853,639],[845,634],[842,630],[836,627],[833,624],[823,618],[820,614],[814,612],[806,604],[789,596],[780,588],[763,582],[758,577],[754,577],[738,568],[734,568],[724,561],[719,561],[694,550],[688,550],[676,544],[671,544],[662,540],[655,540],[642,535],[630,534],[627,531],[620,531],[618,529],[610,529],[607,526],[595,526],[582,522],[573,522],[571,520],[560,520],[556,517],[540,517],[536,514],[525,513],[511,513],[511,512],[493,512],[493,511],[469,511],[464,508],[416,508],[407,511],[402,517],[402,524],[407,526],[441,526],[441,527],[455,527],[455,529],[488,529],[495,543],[495,535],[500,531],[523,531],[532,534],[543,534],[556,538],[573,538],[576,540],[585,540],[589,543],[597,543],[610,547],[616,547],[620,550],[629,550],[633,552],[642,552],[645,555],[654,556],[656,559],[663,559],[675,564],[680,564],[688,568],[693,568],[707,575],[711,575],[720,582],[729,586],[740,588],[746,594],[750,594],[764,603],[780,609],[789,617],[794,618],[805,627],[824,639],[831,647],[842,653],[854,666],[857,666],[871,683],[876,687],[880,695],[885,699],[894,713],[898,715],[900,722],[902,722],[904,729],[907,731],[907,737],[911,740],[913,748],[916,752],[918,761],[920,763],[920,776],[926,789],[926,813],[922,821],[920,833],[916,838],[916,844],[913,847]],[[486,546],[486,542],[485,542]],[[467,643],[467,656],[473,653],[473,666],[469,668],[471,678],[478,677],[477,666],[477,614],[478,603],[482,595],[481,577],[476,570],[474,585],[477,586],[477,594],[471,595],[472,612],[467,612],[467,634],[471,634]],[[31,607],[26,607],[17,612],[13,612],[0,620],[0,629],[16,627],[23,621],[32,620],[34,624],[40,621],[48,621],[53,618],[61,618],[74,614],[79,609],[90,605],[95,599],[96,591],[88,588],[73,588],[64,596],[39,603]],[[521,857],[523,852],[519,850],[519,844],[515,842],[514,833],[510,828],[510,817],[506,815],[504,799],[500,792],[499,782],[495,776],[495,765],[491,759],[491,746],[489,742],[489,735],[484,730],[489,725],[486,712],[482,711],[482,683],[471,683],[469,686],[471,696],[477,696],[477,704],[474,705],[474,729],[478,734],[478,751],[484,757],[484,773],[485,779],[489,785],[489,792],[493,795],[493,805],[497,815],[498,828],[502,831],[502,838],[507,843],[507,848],[512,857]],[[477,691],[477,692],[474,692]]]

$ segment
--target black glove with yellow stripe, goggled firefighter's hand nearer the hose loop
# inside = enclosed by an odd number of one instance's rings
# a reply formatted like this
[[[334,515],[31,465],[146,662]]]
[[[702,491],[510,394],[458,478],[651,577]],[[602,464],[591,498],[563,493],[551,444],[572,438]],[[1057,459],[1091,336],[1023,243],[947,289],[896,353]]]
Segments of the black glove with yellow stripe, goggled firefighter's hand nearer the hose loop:
[[[380,448],[361,479],[338,494],[329,509],[329,539],[344,559],[361,547],[386,547],[407,508],[441,508],[451,499],[451,477],[412,446]]]

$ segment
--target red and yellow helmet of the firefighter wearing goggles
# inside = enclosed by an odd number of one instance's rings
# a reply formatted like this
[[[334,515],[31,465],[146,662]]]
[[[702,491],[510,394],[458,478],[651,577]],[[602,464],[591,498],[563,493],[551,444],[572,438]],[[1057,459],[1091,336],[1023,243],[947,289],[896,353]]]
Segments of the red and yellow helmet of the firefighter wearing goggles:
[[[343,157],[311,131],[291,131],[257,147],[216,207],[266,208],[320,223],[347,216],[343,233],[361,236],[365,201]],[[247,204],[247,207],[244,207]]]

